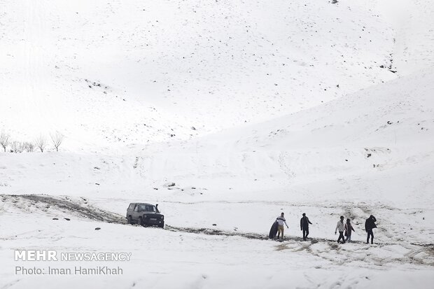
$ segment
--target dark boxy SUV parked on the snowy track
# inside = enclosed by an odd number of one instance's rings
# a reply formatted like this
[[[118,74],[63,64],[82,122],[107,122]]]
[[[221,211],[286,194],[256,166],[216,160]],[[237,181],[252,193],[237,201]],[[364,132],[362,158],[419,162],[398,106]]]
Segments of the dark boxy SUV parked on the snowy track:
[[[127,209],[127,223],[162,228],[165,227],[165,216],[158,211],[158,205],[131,203]]]

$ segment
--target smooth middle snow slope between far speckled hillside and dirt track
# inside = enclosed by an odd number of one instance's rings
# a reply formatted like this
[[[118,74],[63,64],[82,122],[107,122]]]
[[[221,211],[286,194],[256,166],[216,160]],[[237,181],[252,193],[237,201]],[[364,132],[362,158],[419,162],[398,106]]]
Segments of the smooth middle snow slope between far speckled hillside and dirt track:
[[[125,154],[1,154],[0,192],[90,197],[120,214],[143,198],[168,207],[174,225],[206,226],[218,218],[226,229],[233,220],[218,212],[230,203],[229,211],[248,215],[266,206],[269,218],[289,206],[293,220],[302,213],[293,211],[297,206],[316,218],[325,210],[358,222],[367,213],[398,210],[384,222],[400,231],[393,226],[398,219],[407,223],[414,211],[433,214],[433,83],[430,71],[417,73],[260,125]],[[172,181],[169,190],[165,183]],[[181,213],[186,208],[193,223]],[[206,212],[209,217],[196,221]],[[414,218],[419,223],[419,214]],[[237,227],[262,232],[269,222],[254,220]],[[409,236],[430,243],[433,223],[420,226]],[[327,227],[321,232],[327,237]]]

